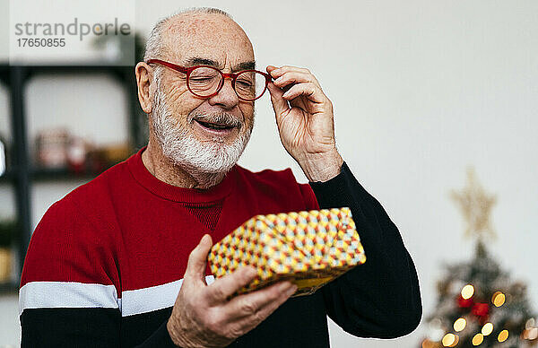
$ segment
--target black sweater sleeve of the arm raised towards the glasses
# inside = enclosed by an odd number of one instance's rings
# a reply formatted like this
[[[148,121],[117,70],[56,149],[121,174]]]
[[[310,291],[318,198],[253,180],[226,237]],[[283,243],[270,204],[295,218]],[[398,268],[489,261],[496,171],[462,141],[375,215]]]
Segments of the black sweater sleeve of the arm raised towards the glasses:
[[[394,338],[419,325],[421,292],[395,224],[343,162],[336,177],[310,182],[321,209],[350,207],[366,263],[321,289],[327,315],[351,335]]]

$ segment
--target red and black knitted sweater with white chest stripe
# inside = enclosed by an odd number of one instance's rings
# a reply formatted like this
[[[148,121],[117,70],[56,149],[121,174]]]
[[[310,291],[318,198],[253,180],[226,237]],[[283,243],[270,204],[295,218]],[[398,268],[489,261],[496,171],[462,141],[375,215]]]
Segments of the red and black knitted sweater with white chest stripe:
[[[176,300],[187,257],[204,233],[211,234],[216,242],[256,214],[317,209],[317,196],[323,200],[324,194],[329,194],[325,199],[328,203],[336,188],[348,189],[348,196],[352,194],[349,187],[337,187],[342,185],[338,179],[342,181],[348,172],[351,175],[345,163],[345,173],[328,183],[298,184],[290,169],[253,173],[236,165],[219,185],[208,190],[173,187],[146,170],[142,162],[144,149],[74,189],[53,204],[39,222],[22,271],[23,347],[173,346],[166,320]],[[319,191],[316,195],[313,188]],[[360,194],[366,200],[371,197],[366,191]],[[357,222],[355,214],[362,214],[357,211],[360,204],[341,203],[339,206],[351,207]],[[376,209],[389,222],[380,205]],[[374,220],[371,223],[379,225]],[[391,227],[388,222],[381,222],[387,225],[385,229]],[[357,226],[363,237],[360,221]],[[378,228],[383,233],[383,227]],[[411,311],[407,315],[416,324],[421,306],[414,266],[397,230],[390,234],[394,240],[388,248],[395,248],[396,255],[386,257],[400,257],[398,263],[404,261],[405,265],[389,272],[382,270],[376,277],[382,279],[384,273],[389,274],[389,279],[396,276],[390,280],[406,289],[404,295],[412,305],[404,311]],[[377,257],[369,251],[368,238],[363,238],[363,244],[369,260],[374,260],[371,264],[386,268],[383,263],[388,260],[383,257],[376,265]],[[380,247],[383,248],[377,245]],[[397,274],[402,269],[404,274]],[[206,272],[211,282],[209,267]],[[368,281],[377,283],[376,279]],[[342,285],[346,288],[343,292]],[[365,297],[356,301],[361,294],[352,293],[358,289],[349,287],[343,283],[333,290],[325,286],[317,294],[288,300],[255,330],[240,337],[235,346],[326,346],[327,314],[344,329],[349,327],[354,335],[371,335],[379,319],[369,317],[383,313],[378,312],[378,306],[373,306],[371,313],[361,313],[364,308],[345,313],[349,303],[354,307],[362,300],[373,300]],[[373,290],[368,292],[374,293]],[[358,324],[364,319],[368,325]],[[394,326],[395,319],[390,320]],[[379,332],[385,329],[390,327],[377,328]],[[388,331],[385,334],[395,335]]]

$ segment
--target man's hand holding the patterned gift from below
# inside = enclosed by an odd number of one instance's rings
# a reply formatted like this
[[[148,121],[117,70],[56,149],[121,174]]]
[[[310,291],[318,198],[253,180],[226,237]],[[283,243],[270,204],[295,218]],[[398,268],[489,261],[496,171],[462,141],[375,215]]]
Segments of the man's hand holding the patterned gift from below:
[[[187,271],[167,328],[174,344],[183,348],[223,347],[247,334],[297,290],[279,282],[227,300],[256,277],[252,266],[239,268],[211,285],[205,283],[205,264],[213,242],[204,235],[188,257]]]

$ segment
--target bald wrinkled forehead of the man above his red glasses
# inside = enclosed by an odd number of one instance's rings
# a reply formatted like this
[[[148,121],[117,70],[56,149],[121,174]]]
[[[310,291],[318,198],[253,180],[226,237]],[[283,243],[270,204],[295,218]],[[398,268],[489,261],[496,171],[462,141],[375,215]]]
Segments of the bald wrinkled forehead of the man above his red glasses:
[[[165,24],[163,39],[166,55],[179,65],[197,65],[197,59],[206,59],[221,69],[233,69],[254,61],[245,31],[222,14],[183,13]]]

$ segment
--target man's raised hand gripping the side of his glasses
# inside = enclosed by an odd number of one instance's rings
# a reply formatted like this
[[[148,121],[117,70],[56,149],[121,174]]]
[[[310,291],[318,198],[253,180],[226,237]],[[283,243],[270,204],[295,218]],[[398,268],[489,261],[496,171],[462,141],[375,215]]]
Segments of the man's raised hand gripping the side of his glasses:
[[[275,79],[271,93],[282,145],[309,181],[326,181],[340,173],[342,156],[334,141],[333,104],[308,69],[267,66]]]

